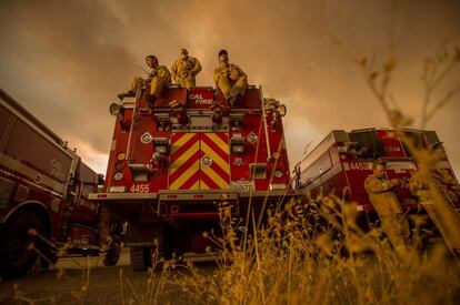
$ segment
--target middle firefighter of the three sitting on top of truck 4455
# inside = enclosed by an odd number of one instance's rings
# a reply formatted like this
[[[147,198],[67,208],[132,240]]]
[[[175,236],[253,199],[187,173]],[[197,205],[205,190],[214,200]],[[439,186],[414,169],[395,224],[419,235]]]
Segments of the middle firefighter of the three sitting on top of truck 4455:
[[[196,87],[194,78],[201,71],[198,59],[189,57],[187,49],[180,50],[180,58],[171,67],[172,80],[187,89]]]

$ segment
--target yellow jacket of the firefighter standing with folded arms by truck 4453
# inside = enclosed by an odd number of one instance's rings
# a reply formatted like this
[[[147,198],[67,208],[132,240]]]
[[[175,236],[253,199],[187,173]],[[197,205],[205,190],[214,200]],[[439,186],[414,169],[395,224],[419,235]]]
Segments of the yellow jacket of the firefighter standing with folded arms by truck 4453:
[[[387,179],[376,177],[372,174],[366,177],[366,192],[379,216],[402,213],[398,196],[391,190],[393,187],[394,184]]]

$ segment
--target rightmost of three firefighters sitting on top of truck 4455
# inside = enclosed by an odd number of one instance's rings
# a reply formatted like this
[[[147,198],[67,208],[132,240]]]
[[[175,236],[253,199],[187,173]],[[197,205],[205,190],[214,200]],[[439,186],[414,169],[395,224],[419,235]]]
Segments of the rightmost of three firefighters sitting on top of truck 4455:
[[[230,105],[233,105],[248,88],[248,77],[238,65],[229,62],[227,50],[219,51],[219,68],[214,69],[214,82]]]

